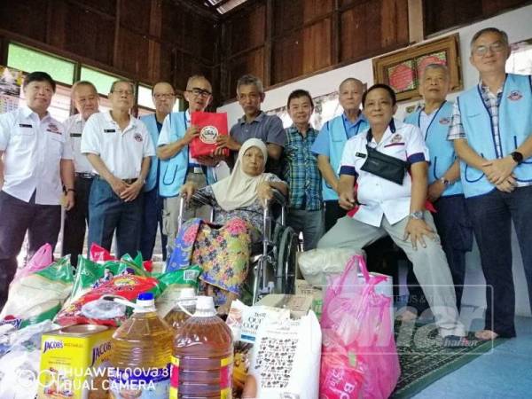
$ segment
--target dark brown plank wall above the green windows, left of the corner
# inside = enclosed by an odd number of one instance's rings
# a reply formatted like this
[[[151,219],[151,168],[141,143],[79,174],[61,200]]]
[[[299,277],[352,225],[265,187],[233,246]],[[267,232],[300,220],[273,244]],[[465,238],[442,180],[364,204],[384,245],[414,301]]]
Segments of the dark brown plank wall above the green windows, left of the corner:
[[[0,37],[140,82],[219,75],[213,14],[187,0],[17,0],[0,2]],[[0,55],[2,55],[0,53]],[[4,58],[5,59],[5,55]]]

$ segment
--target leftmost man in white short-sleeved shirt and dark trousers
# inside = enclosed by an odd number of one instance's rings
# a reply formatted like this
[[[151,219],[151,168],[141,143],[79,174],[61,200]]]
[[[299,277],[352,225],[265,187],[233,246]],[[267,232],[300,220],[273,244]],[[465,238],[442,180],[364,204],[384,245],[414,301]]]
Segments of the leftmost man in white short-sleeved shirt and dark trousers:
[[[26,232],[30,256],[46,243],[55,246],[63,187],[66,210],[74,207],[72,150],[48,113],[55,88],[49,74],[32,72],[22,86],[26,106],[0,115],[0,307]]]

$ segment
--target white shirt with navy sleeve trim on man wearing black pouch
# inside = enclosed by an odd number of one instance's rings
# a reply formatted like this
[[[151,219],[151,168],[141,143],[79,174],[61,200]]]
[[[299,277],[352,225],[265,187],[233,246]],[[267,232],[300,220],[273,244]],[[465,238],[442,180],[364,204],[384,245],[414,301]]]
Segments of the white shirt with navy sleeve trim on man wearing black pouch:
[[[428,161],[428,149],[419,128],[398,120],[394,123],[395,133],[388,127],[380,143],[373,138],[370,146],[411,163]],[[376,227],[380,226],[383,215],[390,224],[397,223],[410,214],[411,176],[405,173],[403,184],[399,185],[361,170],[367,157],[366,144],[367,133],[351,137],[341,159],[340,174],[355,176],[356,173],[357,176],[357,200],[361,206],[353,217]]]

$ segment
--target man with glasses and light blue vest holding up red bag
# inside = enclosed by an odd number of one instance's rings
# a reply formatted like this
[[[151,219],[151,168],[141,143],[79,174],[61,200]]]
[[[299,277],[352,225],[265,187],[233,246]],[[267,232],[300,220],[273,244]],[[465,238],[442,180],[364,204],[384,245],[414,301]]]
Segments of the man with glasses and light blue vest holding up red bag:
[[[201,188],[215,183],[214,168],[219,157],[214,156],[216,147],[211,141],[223,132],[227,135],[226,114],[204,113],[212,100],[212,86],[205,76],[189,78],[184,98],[189,109],[166,117],[157,143],[159,190],[164,198],[163,230],[168,234],[168,254],[173,251],[176,239],[181,186],[192,182]],[[189,218],[192,213],[202,218],[209,215],[208,209],[202,207],[184,217]]]

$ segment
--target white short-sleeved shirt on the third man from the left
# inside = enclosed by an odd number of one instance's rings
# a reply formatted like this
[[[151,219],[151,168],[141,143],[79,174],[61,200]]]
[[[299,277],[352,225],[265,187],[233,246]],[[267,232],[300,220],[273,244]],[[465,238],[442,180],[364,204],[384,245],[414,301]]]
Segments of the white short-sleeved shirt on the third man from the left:
[[[152,137],[142,121],[130,116],[129,125],[122,131],[109,111],[93,113],[85,122],[81,151],[99,155],[113,176],[120,179],[140,176],[144,158],[155,155]]]

